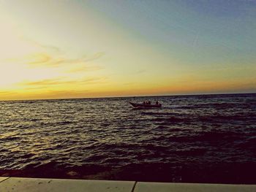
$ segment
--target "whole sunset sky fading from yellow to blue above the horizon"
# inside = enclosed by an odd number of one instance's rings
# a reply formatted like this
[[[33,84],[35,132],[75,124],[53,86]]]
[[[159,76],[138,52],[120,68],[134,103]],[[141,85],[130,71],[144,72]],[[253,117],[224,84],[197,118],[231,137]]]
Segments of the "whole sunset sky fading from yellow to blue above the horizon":
[[[0,0],[0,100],[256,93],[256,0]]]

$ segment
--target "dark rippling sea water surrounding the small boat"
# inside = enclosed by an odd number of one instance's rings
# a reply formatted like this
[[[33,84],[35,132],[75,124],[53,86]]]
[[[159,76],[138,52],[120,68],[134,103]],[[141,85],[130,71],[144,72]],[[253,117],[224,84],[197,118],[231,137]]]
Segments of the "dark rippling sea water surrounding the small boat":
[[[134,110],[127,101],[159,101]],[[256,94],[0,101],[0,175],[256,183]]]

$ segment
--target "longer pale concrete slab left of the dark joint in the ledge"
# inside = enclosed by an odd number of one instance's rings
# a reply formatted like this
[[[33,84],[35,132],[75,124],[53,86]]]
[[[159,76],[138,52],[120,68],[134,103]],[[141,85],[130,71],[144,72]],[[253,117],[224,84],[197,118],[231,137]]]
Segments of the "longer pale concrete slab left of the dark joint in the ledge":
[[[28,191],[28,192],[131,192],[135,182],[105,181],[105,180],[61,180],[10,177],[0,183],[0,191]]]

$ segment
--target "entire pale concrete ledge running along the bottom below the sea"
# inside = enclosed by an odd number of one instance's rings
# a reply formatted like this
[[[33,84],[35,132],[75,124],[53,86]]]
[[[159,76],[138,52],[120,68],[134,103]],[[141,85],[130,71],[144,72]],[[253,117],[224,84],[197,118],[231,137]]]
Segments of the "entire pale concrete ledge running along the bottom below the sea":
[[[121,191],[121,192],[255,192],[256,185],[146,183],[110,180],[66,180],[21,177],[0,177],[0,191]]]

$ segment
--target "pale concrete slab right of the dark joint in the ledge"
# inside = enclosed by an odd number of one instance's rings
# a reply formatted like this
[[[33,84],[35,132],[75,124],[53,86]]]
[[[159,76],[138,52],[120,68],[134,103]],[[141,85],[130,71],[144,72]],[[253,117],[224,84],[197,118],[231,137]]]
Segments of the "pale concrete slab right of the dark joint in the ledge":
[[[255,192],[256,185],[143,183],[138,182],[134,192]]]

